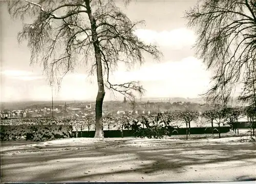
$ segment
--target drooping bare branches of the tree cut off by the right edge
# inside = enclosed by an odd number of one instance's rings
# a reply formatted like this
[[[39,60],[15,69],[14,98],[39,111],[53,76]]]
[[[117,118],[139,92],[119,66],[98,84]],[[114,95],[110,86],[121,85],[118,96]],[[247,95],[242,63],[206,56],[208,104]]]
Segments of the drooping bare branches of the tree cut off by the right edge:
[[[214,70],[208,101],[227,104],[240,82],[248,80],[256,59],[256,5],[248,0],[202,0],[185,13],[197,29],[196,51]]]

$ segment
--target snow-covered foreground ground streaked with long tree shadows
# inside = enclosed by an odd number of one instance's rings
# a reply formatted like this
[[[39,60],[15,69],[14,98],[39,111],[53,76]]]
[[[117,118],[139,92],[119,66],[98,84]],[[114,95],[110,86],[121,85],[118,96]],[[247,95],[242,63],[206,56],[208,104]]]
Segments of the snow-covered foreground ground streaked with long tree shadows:
[[[245,181],[255,142],[222,139],[72,138],[1,146],[2,182]]]

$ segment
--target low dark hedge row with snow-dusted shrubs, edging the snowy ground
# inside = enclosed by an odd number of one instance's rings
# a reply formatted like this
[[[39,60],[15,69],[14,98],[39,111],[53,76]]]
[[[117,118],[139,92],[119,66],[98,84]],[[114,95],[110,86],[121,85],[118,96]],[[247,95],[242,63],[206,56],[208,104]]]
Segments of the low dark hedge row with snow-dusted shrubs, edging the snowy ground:
[[[79,131],[72,133],[72,125],[1,125],[1,141],[30,140],[48,141],[71,137],[94,137],[95,131]],[[126,128],[126,130],[124,129]],[[211,128],[191,128],[191,134],[209,134]],[[221,133],[229,131],[229,127],[221,127]],[[218,133],[216,129],[215,133]],[[119,130],[104,130],[104,137],[138,137],[138,138],[163,138],[164,136],[185,135],[186,128],[179,128],[170,124],[156,121],[148,122],[134,120],[131,124],[121,126]]]

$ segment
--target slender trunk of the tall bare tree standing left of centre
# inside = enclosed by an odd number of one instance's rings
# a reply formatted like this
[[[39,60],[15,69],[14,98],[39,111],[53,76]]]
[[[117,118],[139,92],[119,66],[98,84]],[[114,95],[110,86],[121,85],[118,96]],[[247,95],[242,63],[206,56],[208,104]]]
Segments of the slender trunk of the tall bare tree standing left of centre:
[[[103,81],[103,73],[102,73],[101,52],[99,48],[98,35],[96,32],[96,29],[97,29],[96,20],[91,10],[90,0],[85,0],[84,2],[86,2],[87,14],[89,16],[90,23],[91,23],[92,40],[93,40],[93,46],[94,46],[94,52],[95,52],[97,79],[98,79],[98,94],[96,97],[96,106],[95,106],[95,116],[96,116],[95,128],[96,129],[95,129],[94,138],[103,138],[104,135],[102,131],[102,104],[105,96],[105,91],[104,91],[104,81]]]

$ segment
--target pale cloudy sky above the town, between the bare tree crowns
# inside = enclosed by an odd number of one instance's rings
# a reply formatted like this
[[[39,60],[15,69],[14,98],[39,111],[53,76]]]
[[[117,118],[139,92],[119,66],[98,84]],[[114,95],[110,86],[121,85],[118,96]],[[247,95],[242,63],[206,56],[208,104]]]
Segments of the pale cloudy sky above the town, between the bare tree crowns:
[[[121,1],[120,1],[121,2]],[[120,67],[112,76],[117,82],[136,80],[146,89],[144,97],[198,97],[209,84],[210,72],[195,58],[191,46],[196,36],[186,28],[184,11],[196,1],[136,1],[124,10],[131,20],[145,20],[136,30],[145,43],[159,45],[161,62],[146,57],[146,63],[130,71]],[[3,5],[3,4],[2,4]],[[1,6],[1,101],[51,100],[51,88],[39,65],[29,65],[26,42],[18,45],[16,36],[22,29],[20,20],[12,20],[5,5]],[[62,81],[57,100],[95,99],[97,85],[89,80],[86,69],[77,68]],[[106,100],[114,99],[109,92]],[[120,99],[120,98],[119,98]]]

